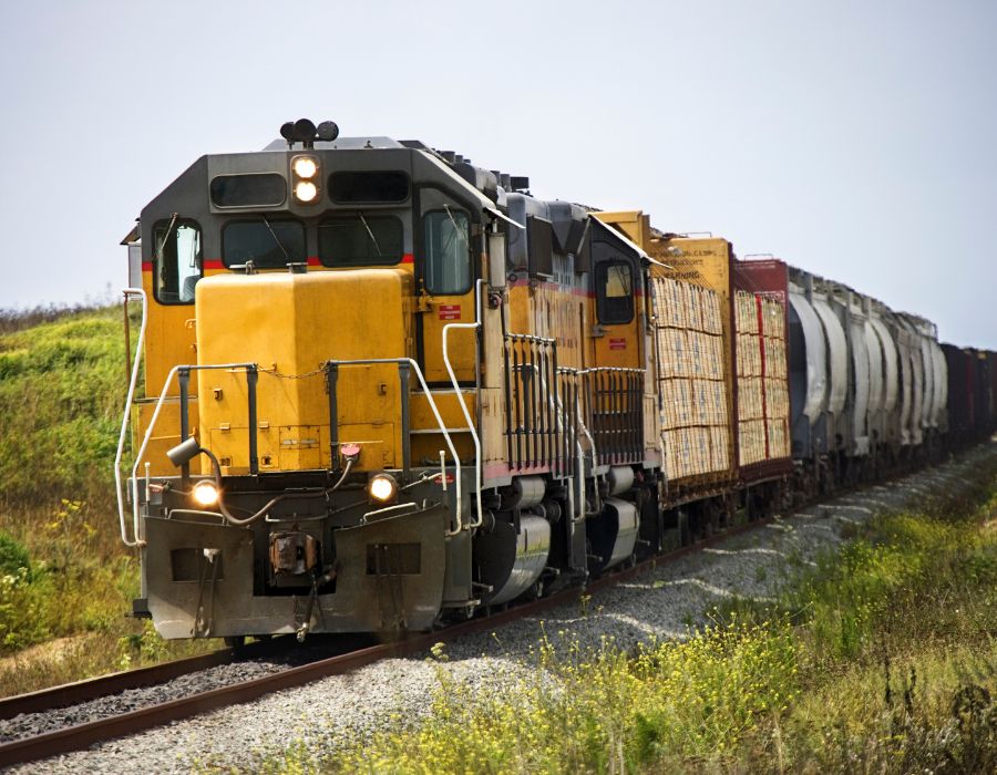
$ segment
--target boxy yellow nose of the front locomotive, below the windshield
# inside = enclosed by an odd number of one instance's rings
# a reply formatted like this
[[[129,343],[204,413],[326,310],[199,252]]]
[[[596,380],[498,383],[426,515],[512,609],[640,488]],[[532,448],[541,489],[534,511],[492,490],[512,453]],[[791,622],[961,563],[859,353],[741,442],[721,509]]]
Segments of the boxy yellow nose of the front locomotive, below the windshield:
[[[395,269],[223,275],[197,289],[198,364],[256,363],[254,427],[244,374],[198,373],[199,438],[224,475],[331,468],[360,445],[356,471],[401,464],[402,385],[411,356],[411,276]],[[250,444],[255,436],[255,445]]]

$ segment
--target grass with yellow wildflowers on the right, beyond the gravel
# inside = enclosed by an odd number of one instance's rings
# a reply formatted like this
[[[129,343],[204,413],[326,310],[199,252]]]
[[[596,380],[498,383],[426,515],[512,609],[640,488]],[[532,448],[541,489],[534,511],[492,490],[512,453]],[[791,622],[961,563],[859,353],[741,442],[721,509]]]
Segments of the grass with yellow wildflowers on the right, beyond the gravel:
[[[774,603],[734,601],[685,641],[594,652],[545,637],[525,681],[473,692],[438,649],[425,719],[265,772],[997,769],[997,466],[917,514],[855,528]],[[666,592],[662,592],[666,593]],[[327,744],[328,745],[328,744]]]

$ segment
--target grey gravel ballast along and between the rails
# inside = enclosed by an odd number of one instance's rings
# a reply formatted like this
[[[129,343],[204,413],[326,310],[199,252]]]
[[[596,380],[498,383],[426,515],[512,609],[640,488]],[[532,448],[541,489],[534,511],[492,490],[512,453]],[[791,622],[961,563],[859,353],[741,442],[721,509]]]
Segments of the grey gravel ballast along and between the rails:
[[[467,684],[472,692],[489,691],[490,686],[531,674],[542,633],[555,644],[565,638],[583,648],[596,648],[607,639],[630,649],[650,638],[683,638],[690,628],[707,622],[707,612],[718,602],[733,596],[772,599],[788,574],[801,565],[813,565],[821,552],[841,545],[855,524],[883,510],[912,506],[933,492],[957,487],[964,472],[995,454],[997,445],[990,444],[956,463],[777,518],[760,529],[731,536],[604,590],[585,602],[548,611],[542,620],[522,619],[494,632],[462,638],[448,644],[445,662],[425,657],[387,660],[348,675],[111,741],[90,751],[24,765],[14,772],[186,773],[205,764],[251,767],[257,756],[282,751],[291,743],[330,746],[338,741],[366,737],[382,728],[389,719],[415,721],[430,711],[441,674]],[[3,722],[0,736],[9,740],[51,728],[32,724],[62,725],[66,717],[78,723],[86,721],[102,707],[106,712],[110,702],[119,709],[122,703],[147,704],[150,692],[164,692],[155,700],[162,701],[168,699],[165,692],[175,696],[189,693],[194,685],[209,689],[280,666],[277,662],[258,661],[215,668],[185,676],[181,688],[171,684],[133,690],[125,693],[124,700],[101,700],[56,714]],[[62,720],[32,721],[52,715],[61,715]]]

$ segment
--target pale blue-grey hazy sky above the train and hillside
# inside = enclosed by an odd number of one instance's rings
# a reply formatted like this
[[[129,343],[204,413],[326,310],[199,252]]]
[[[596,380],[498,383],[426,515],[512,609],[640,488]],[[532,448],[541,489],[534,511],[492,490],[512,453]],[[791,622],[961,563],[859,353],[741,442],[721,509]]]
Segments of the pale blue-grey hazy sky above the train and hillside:
[[[103,300],[205,153],[418,138],[997,349],[990,0],[0,3],[0,308]]]

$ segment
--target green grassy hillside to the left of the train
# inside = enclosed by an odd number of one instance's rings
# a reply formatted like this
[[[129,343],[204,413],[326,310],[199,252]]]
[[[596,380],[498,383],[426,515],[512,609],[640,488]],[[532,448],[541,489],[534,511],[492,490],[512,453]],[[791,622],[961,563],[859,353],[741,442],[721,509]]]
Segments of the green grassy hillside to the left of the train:
[[[124,616],[138,572],[117,537],[111,465],[121,314],[0,312],[0,694],[205,648],[167,647]]]

